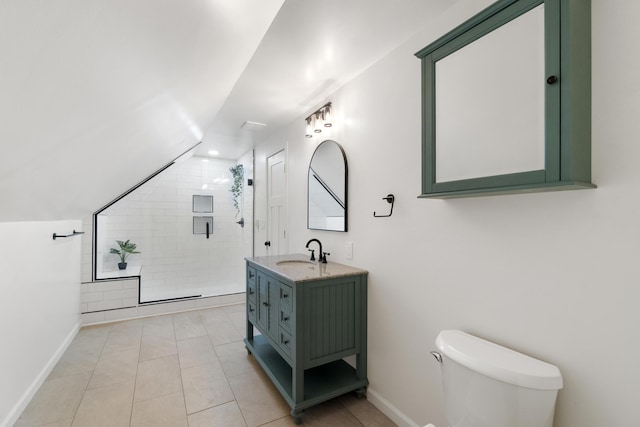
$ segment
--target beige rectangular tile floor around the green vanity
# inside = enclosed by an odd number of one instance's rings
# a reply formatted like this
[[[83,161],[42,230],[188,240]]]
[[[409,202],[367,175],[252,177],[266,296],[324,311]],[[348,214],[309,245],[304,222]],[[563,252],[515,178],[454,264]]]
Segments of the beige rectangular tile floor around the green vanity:
[[[244,305],[82,328],[15,426],[294,426],[244,330]],[[351,394],[303,424],[395,426]]]

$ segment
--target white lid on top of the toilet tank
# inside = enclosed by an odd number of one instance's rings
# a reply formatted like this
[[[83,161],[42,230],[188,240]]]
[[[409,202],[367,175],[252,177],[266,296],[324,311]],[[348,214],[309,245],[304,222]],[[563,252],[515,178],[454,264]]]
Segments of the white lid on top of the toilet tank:
[[[562,388],[558,367],[465,332],[441,331],[436,346],[444,356],[496,380],[538,390]]]

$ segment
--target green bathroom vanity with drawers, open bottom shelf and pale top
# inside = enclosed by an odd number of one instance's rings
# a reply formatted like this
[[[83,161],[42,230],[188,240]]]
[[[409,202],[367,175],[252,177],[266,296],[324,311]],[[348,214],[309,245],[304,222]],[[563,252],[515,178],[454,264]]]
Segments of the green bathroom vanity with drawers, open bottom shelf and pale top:
[[[302,411],[367,381],[367,271],[305,255],[247,258],[245,344],[291,407]],[[255,333],[256,330],[259,333]],[[355,356],[355,368],[343,358]]]

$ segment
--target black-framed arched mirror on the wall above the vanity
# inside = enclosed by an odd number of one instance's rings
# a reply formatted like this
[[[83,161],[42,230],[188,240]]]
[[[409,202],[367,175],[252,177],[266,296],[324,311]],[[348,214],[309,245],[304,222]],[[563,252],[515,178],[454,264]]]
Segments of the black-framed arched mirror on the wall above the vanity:
[[[330,139],[318,145],[308,176],[307,227],[347,231],[347,157]]]

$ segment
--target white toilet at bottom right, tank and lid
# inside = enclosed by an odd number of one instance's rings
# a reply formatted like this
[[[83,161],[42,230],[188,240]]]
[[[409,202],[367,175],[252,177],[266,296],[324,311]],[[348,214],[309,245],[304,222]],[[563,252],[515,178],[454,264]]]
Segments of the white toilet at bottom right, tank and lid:
[[[556,366],[458,330],[441,331],[436,347],[449,427],[553,426]]]

